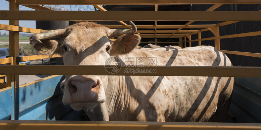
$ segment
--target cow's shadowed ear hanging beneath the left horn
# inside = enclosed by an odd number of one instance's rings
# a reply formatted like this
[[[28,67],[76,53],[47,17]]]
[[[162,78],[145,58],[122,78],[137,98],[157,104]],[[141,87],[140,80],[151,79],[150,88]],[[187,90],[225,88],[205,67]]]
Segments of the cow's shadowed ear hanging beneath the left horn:
[[[63,55],[63,48],[61,48],[63,43],[62,38],[41,40],[42,43],[36,43],[32,40],[32,36],[30,37],[30,45],[39,53],[49,56]]]

